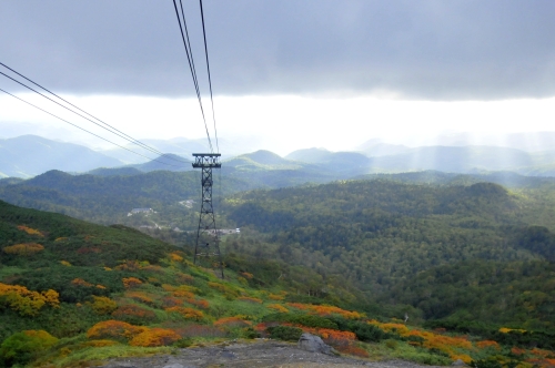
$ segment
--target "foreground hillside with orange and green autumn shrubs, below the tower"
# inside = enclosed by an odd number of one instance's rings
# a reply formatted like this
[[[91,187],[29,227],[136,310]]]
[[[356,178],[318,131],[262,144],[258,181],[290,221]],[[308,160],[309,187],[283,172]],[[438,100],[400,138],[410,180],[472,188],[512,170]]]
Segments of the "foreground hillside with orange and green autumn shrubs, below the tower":
[[[0,245],[0,367],[90,366],[152,354],[186,364],[215,351],[199,350],[214,343],[295,341],[303,331],[341,355],[428,365],[548,365],[553,352],[546,349],[555,348],[546,333],[481,331],[498,337],[495,343],[390,320],[341,277],[321,278],[278,260],[229,254],[220,279],[190,262],[189,246],[4,202]],[[316,286],[322,282],[325,289]],[[531,348],[531,338],[543,349]],[[255,351],[268,352],[260,344],[236,354],[256,359]],[[506,352],[511,347],[518,354]]]

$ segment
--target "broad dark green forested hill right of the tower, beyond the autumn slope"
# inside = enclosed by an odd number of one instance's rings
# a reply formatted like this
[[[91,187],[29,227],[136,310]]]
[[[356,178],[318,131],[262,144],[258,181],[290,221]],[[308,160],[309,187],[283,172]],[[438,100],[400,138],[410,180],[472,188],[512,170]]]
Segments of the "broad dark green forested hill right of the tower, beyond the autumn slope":
[[[425,318],[466,310],[488,320],[497,309],[487,306],[498,299],[505,300],[500,301],[505,314],[491,321],[537,319],[554,326],[555,310],[526,309],[519,297],[537,292],[545,305],[555,301],[549,288],[534,286],[553,280],[555,234],[534,222],[535,213],[552,204],[492,183],[431,186],[375,180],[243,193],[226,201],[224,211],[236,226],[259,232],[253,238],[263,239],[275,256],[324,278],[343,275],[383,303],[412,305]],[[248,239],[245,233],[238,252],[261,246]],[[501,280],[466,287],[472,283],[462,276],[468,269],[490,275],[492,267],[504,275]],[[536,268],[545,272],[531,278]],[[456,270],[451,282],[430,276],[446,270]],[[514,289],[504,289],[509,284]],[[490,298],[468,301],[484,293]]]

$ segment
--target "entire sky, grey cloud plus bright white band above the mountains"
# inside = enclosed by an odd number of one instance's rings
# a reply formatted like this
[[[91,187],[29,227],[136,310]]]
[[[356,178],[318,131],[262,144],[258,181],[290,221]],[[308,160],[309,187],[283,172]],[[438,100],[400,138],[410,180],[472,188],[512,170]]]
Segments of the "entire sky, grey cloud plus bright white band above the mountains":
[[[0,62],[135,139],[208,129],[285,155],[555,131],[554,1],[204,0],[216,130],[199,2],[183,6],[206,126],[171,0],[1,1]],[[4,75],[0,89],[122,143]],[[0,137],[20,134],[109,146],[0,92]]]

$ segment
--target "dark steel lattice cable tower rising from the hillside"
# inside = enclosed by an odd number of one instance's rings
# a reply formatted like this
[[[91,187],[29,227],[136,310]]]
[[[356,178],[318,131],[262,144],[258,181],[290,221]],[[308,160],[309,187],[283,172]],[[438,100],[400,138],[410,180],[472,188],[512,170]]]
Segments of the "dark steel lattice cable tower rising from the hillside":
[[[212,168],[220,168],[222,164],[219,162],[220,153],[193,153],[194,168],[202,170],[202,202],[201,202],[201,213],[199,216],[199,228],[196,229],[196,245],[194,246],[194,264],[196,264],[198,257],[218,257],[218,263],[220,265],[220,270],[223,278],[223,262],[222,254],[220,253],[220,238],[218,236],[218,228],[215,227],[215,215],[214,207],[212,205],[212,185],[213,176]],[[200,243],[201,232],[213,235],[213,244]]]

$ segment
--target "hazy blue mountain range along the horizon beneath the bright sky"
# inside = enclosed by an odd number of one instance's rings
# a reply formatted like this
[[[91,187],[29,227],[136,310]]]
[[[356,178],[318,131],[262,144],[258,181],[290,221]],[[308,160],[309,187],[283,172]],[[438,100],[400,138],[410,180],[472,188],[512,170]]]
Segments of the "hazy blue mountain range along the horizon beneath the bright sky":
[[[150,153],[148,157],[152,157],[151,161],[144,162],[145,157],[142,157],[143,162],[138,162],[138,159],[130,160],[131,153],[123,149],[98,152],[34,135],[1,140],[0,177],[28,178],[49,170],[104,176],[134,175],[159,170],[182,172],[192,170],[191,152],[206,151],[198,140],[144,142],[167,153],[158,157]],[[299,177],[299,183],[351,178],[372,173],[430,170],[448,173],[508,171],[521,175],[555,176],[555,150],[528,152],[495,145],[408,147],[377,140],[369,141],[357,150],[331,152],[313,147],[294,151],[284,157],[261,150],[224,156],[222,171],[236,175],[271,171],[275,176],[281,172],[286,176]]]

